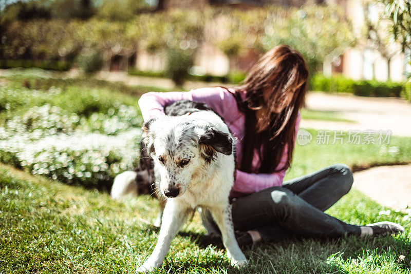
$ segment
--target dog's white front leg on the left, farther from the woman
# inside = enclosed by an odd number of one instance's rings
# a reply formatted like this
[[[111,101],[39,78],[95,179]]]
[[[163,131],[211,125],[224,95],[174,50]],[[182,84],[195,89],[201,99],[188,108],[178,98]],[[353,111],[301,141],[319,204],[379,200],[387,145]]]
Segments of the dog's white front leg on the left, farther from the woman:
[[[171,241],[188,216],[188,212],[188,209],[182,208],[173,199],[167,201],[156,247],[152,255],[137,269],[137,272],[153,271],[163,264],[164,257],[169,252]]]

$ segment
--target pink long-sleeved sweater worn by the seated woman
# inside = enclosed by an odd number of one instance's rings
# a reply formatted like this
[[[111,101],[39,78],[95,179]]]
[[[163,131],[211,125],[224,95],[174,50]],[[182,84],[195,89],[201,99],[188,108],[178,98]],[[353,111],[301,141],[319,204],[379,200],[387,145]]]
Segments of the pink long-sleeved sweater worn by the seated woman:
[[[237,108],[237,103],[231,92],[225,88],[200,88],[187,92],[148,92],[141,96],[138,104],[141,109],[144,121],[147,121],[155,116],[164,115],[164,107],[178,100],[191,100],[206,103],[215,112],[217,112],[226,122],[231,133],[237,139],[236,144],[236,180],[233,189],[231,190],[231,198],[238,198],[259,190],[263,190],[272,186],[281,186],[283,184],[286,170],[273,172],[269,174],[263,173],[247,173],[238,170],[242,156],[242,139],[245,136],[245,115]],[[301,116],[298,115],[295,132],[298,131]],[[283,152],[281,163],[278,169],[284,167],[287,160],[287,147]],[[254,155],[253,167],[259,164],[258,154]]]

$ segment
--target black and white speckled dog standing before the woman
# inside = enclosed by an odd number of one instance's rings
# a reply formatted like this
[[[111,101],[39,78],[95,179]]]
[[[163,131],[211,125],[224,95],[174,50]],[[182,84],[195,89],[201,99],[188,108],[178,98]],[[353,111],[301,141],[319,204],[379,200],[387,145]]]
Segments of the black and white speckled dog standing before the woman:
[[[211,212],[231,263],[247,264],[234,236],[229,203],[234,184],[234,139],[215,112],[196,104],[176,102],[169,115],[177,116],[154,118],[143,126],[142,141],[154,161],[155,178],[166,204],[157,245],[138,271],[162,265],[172,239],[197,207]],[[127,189],[120,185],[120,181],[115,182],[111,192]]]

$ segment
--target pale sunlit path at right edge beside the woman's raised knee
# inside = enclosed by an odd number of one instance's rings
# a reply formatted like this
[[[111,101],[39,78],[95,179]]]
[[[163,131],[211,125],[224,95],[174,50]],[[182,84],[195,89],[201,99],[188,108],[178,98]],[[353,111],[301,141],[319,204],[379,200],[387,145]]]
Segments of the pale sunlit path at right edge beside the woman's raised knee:
[[[393,209],[411,208],[411,164],[355,172],[353,187],[381,205]]]

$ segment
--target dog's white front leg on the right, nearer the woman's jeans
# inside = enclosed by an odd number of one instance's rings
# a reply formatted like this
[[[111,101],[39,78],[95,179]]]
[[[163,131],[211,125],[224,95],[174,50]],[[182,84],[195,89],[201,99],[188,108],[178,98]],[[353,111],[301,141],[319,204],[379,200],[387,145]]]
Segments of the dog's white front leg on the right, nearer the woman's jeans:
[[[231,217],[231,205],[226,207],[210,208],[211,214],[221,231],[222,243],[227,249],[227,256],[234,266],[247,264],[246,256],[238,246],[234,235],[233,219]]]

